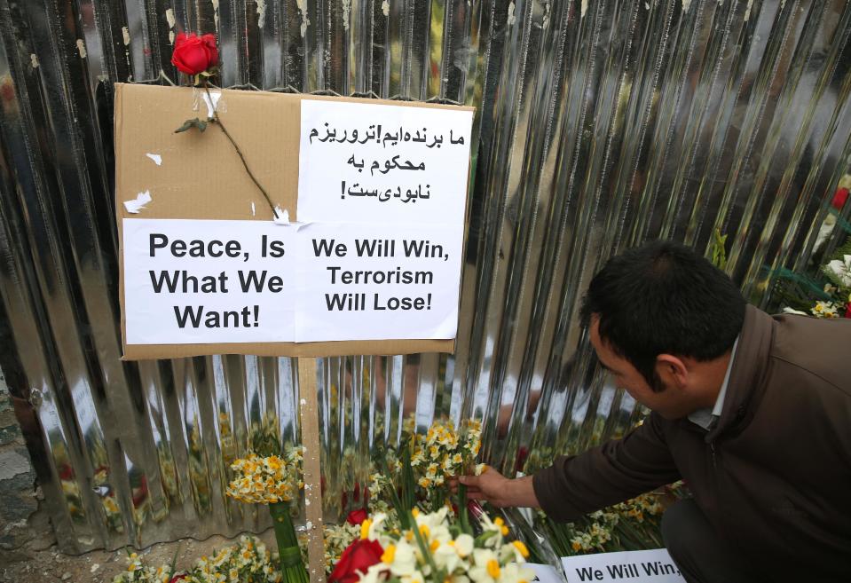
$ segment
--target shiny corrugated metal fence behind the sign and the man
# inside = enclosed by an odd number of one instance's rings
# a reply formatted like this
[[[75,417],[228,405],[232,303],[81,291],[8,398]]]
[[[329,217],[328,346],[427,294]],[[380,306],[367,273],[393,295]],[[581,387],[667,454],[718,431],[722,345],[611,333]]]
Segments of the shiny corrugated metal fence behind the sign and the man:
[[[506,470],[622,432],[641,411],[577,325],[593,272],[720,229],[768,305],[847,171],[844,0],[0,0],[0,366],[69,552],[264,527],[228,464],[298,436],[288,358],[120,360],[109,83],[176,77],[183,29],[217,31],[227,86],[477,106],[458,351],[321,361],[330,520],[411,414],[484,418]]]

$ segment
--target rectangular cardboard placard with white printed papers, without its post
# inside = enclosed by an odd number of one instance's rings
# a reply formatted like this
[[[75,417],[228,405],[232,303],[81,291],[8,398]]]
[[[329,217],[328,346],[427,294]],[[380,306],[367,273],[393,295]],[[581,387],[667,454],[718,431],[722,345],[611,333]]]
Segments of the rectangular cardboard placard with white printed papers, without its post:
[[[124,358],[453,351],[472,109],[211,98],[117,85]]]

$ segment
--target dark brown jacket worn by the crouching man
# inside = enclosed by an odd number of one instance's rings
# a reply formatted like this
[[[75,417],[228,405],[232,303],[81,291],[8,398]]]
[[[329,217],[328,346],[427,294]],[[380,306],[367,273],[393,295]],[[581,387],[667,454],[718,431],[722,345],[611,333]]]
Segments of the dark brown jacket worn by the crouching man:
[[[681,478],[755,580],[851,581],[851,319],[748,306],[713,429],[653,413],[533,484],[569,521]]]

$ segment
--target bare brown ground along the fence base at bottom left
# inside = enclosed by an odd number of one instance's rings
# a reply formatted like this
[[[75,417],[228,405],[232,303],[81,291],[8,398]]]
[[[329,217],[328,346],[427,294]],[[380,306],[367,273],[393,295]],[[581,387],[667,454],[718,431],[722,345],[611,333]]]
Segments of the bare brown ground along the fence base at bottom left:
[[[258,535],[267,547],[274,547],[270,529]],[[143,551],[147,564],[171,563],[177,555],[177,569],[191,566],[201,555],[235,543],[234,539],[214,536],[208,540],[178,540],[153,545]],[[112,583],[114,576],[127,568],[127,552],[91,551],[85,555],[63,555],[55,546],[43,550],[29,549],[26,555],[0,555],[0,581],[4,583]]]

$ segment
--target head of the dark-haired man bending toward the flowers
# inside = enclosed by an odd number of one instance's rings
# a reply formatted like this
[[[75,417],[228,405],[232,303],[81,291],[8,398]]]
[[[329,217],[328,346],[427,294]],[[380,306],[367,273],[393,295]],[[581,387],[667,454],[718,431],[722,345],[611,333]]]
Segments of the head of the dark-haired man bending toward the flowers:
[[[694,250],[653,241],[612,257],[582,319],[619,387],[665,417],[711,406],[745,321],[745,298]]]

